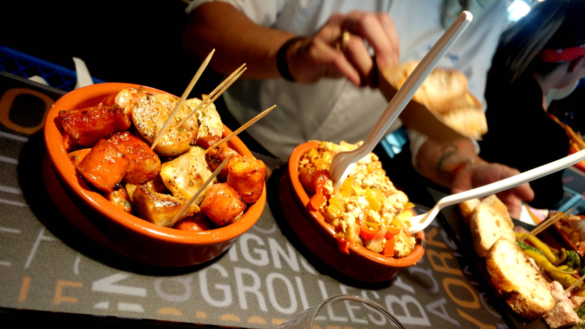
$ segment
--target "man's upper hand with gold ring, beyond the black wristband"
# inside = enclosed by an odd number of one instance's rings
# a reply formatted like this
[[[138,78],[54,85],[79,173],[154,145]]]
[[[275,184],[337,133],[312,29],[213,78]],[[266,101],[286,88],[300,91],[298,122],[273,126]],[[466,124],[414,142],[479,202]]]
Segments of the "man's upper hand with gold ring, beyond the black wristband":
[[[349,32],[345,38],[344,31]],[[300,83],[346,77],[358,86],[377,87],[376,66],[364,41],[380,66],[398,63],[398,35],[390,16],[353,11],[331,16],[315,35],[291,44],[288,69]]]

